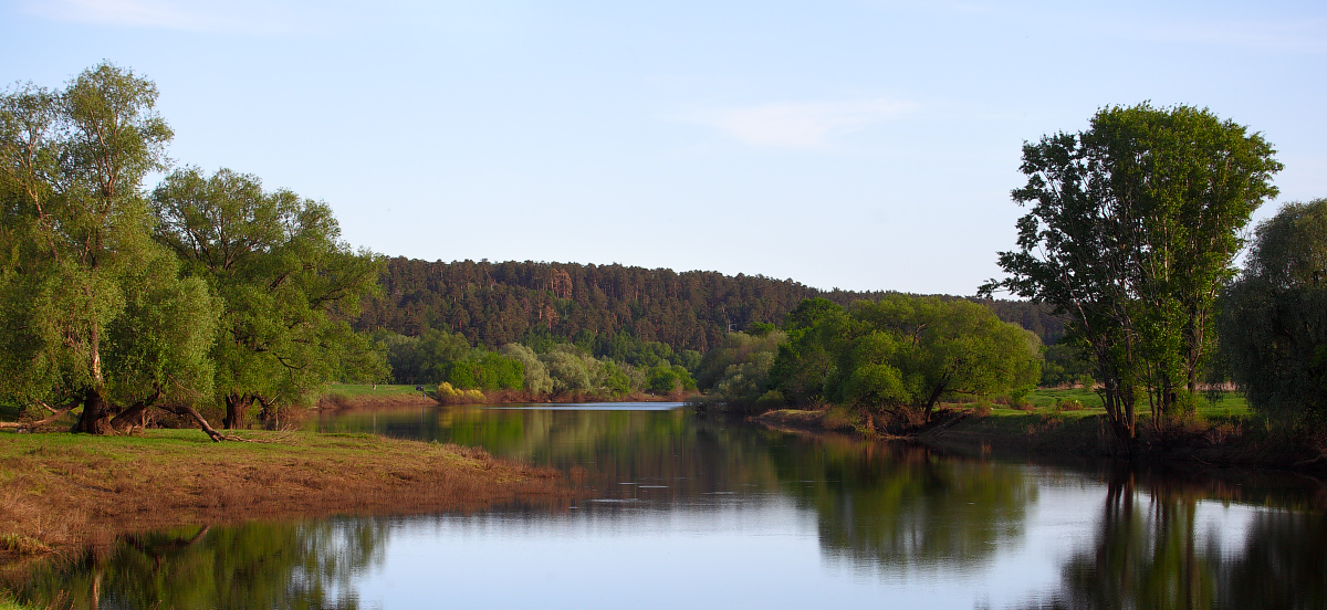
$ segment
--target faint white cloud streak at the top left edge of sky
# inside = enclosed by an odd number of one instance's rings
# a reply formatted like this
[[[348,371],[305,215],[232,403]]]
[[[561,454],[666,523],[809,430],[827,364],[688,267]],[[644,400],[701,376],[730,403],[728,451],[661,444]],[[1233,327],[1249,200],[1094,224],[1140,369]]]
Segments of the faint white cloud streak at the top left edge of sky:
[[[293,29],[289,15],[261,3],[215,3],[180,0],[35,0],[29,13],[56,21],[183,32],[279,33]]]

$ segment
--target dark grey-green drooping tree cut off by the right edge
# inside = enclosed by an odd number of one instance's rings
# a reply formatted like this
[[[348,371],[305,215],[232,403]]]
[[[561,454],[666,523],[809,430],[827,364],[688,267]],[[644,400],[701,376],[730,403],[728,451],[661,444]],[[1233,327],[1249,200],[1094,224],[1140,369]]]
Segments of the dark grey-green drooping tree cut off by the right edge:
[[[1327,428],[1327,199],[1258,225],[1223,305],[1222,350],[1250,404]]]

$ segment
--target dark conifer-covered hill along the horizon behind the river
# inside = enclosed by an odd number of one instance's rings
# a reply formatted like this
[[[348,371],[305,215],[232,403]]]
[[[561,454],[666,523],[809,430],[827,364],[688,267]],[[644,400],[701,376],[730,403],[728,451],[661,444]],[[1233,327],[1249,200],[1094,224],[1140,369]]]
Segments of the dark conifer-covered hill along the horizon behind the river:
[[[418,336],[434,328],[488,346],[528,341],[531,336],[572,341],[577,336],[626,332],[641,341],[701,353],[729,330],[782,322],[803,298],[824,297],[847,305],[884,294],[820,290],[792,280],[740,273],[405,257],[387,260],[381,284],[384,296],[365,302],[360,330]],[[1043,338],[1058,338],[1062,332],[1056,320],[1027,304],[994,304],[1002,318]]]

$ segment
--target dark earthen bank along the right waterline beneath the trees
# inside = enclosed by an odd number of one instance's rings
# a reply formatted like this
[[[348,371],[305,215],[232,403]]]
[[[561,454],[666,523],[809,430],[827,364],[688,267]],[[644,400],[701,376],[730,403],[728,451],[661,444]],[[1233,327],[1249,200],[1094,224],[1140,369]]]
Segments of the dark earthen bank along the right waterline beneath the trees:
[[[784,408],[751,419],[772,428],[888,438],[868,430],[859,418],[841,408]],[[922,430],[901,438],[970,456],[1117,456],[1104,415],[1089,410],[949,407],[938,410]],[[1136,457],[1148,461],[1282,468],[1327,475],[1324,461],[1312,461],[1320,454],[1247,414],[1209,412],[1177,426],[1165,438],[1140,422],[1136,451]]]

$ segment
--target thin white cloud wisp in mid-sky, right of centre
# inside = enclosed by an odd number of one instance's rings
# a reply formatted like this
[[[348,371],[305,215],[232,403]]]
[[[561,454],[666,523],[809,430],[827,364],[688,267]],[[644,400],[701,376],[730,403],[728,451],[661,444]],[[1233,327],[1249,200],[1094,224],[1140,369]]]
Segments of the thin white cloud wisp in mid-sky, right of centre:
[[[783,102],[689,113],[683,121],[707,125],[758,146],[820,147],[829,138],[898,118],[917,107],[896,99]]]

